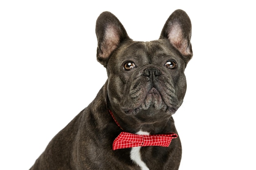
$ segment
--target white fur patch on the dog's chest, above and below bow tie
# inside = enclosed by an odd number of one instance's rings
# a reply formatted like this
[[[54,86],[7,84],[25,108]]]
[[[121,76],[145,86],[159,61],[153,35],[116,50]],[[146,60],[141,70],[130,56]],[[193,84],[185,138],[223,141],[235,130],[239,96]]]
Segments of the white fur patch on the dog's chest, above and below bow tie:
[[[136,134],[149,135],[148,132],[144,132],[144,131],[138,131]],[[130,153],[130,158],[132,159],[133,162],[135,162],[138,166],[140,166],[141,170],[149,170],[146,163],[141,160],[140,148],[141,146],[133,147]]]

